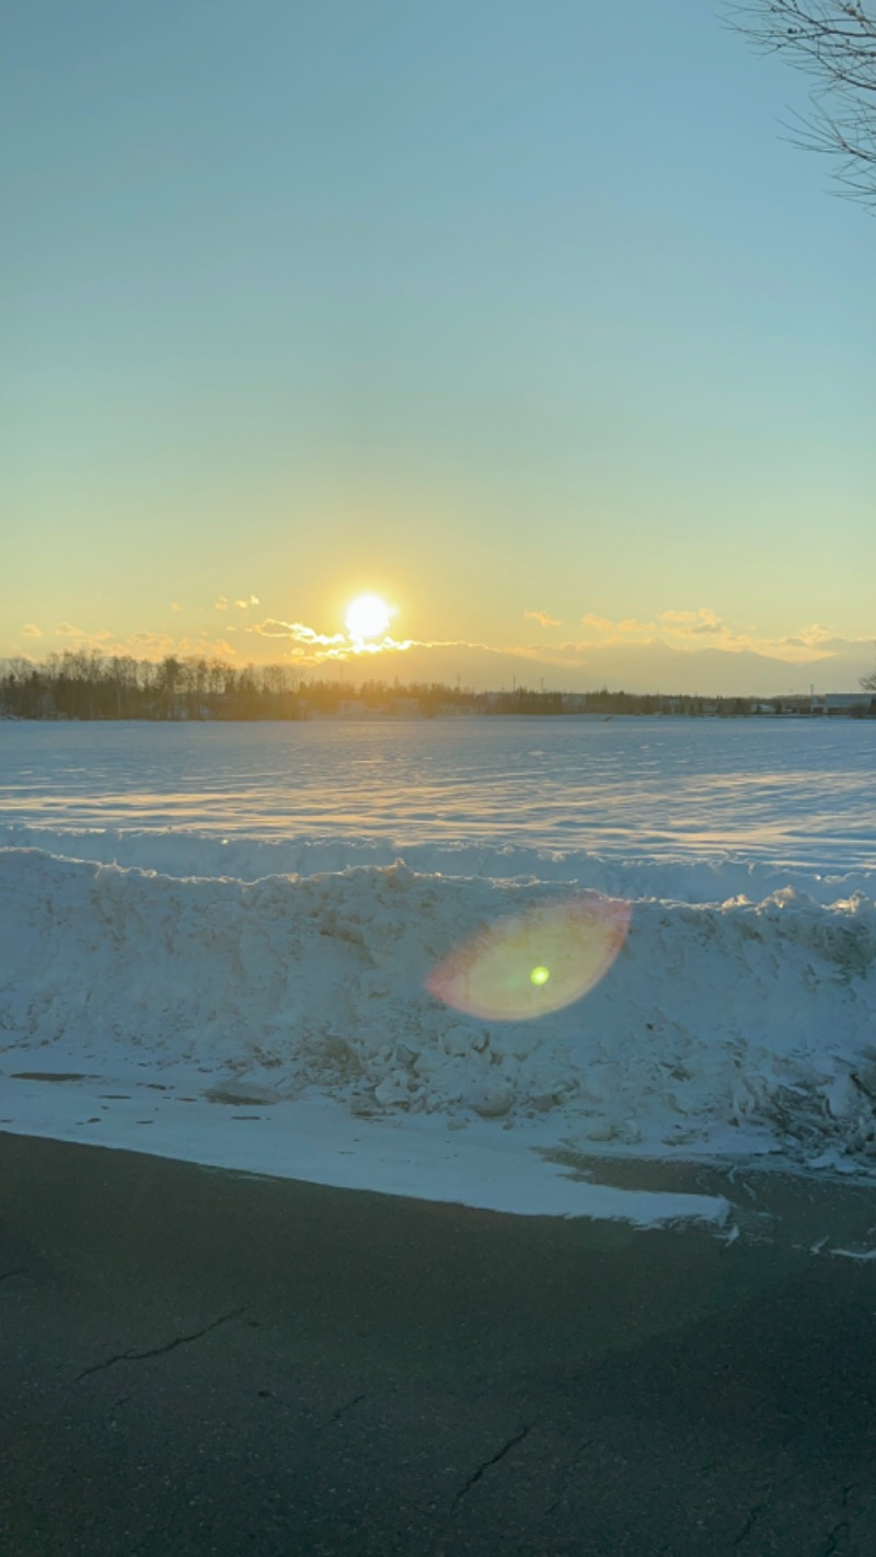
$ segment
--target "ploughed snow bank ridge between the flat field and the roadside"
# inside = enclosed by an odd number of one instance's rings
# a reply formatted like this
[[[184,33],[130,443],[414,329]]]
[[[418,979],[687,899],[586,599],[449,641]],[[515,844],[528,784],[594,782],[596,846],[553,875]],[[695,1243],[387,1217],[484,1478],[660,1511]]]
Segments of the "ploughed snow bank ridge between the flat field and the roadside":
[[[160,1088],[185,1065],[199,1096],[241,1107],[319,1096],[358,1121],[548,1121],[602,1154],[876,1163],[876,912],[860,891],[787,873],[775,887],[734,863],[37,835],[40,849],[0,849],[8,1076],[39,1063],[107,1084],[137,1067]],[[582,889],[632,902],[587,998],[484,1021],[428,993],[484,926]]]

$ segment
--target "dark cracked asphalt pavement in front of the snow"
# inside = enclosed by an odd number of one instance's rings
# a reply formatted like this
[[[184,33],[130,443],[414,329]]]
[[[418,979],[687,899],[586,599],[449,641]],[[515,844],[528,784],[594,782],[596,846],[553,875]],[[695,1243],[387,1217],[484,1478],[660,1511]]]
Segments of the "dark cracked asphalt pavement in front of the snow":
[[[0,1133],[0,1552],[873,1557],[876,1261],[814,1252],[873,1191],[741,1191],[728,1242]]]

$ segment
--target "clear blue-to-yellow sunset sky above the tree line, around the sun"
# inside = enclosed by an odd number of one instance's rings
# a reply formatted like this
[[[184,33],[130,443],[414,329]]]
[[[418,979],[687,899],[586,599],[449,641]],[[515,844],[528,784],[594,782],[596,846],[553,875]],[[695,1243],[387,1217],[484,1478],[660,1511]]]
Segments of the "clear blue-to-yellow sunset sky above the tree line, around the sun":
[[[854,690],[876,227],[806,92],[708,0],[9,0],[0,655]]]

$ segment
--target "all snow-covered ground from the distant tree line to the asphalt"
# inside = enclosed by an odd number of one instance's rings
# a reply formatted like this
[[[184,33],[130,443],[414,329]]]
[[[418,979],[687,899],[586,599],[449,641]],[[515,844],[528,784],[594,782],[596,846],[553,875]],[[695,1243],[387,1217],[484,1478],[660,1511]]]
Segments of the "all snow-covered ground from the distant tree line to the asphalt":
[[[874,741],[0,727],[0,1127],[639,1222],[727,1205],[569,1154],[870,1176]]]

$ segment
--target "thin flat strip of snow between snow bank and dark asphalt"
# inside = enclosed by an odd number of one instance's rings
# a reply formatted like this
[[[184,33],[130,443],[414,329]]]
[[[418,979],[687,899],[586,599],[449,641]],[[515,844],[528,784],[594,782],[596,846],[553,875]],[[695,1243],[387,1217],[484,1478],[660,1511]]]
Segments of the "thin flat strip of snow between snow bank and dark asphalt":
[[[274,1107],[241,1102],[216,1109],[201,1099],[198,1071],[174,1067],[162,1074],[157,1090],[129,1074],[128,1090],[118,1095],[95,1082],[65,1088],[8,1082],[5,1093],[16,1109],[14,1129],[23,1135],[342,1190],[451,1200],[517,1216],[608,1218],[635,1227],[697,1221],[724,1228],[731,1216],[720,1194],[580,1182],[543,1158],[540,1149],[551,1141],[543,1121],[515,1130],[478,1119],[448,1129],[447,1121],[423,1115],[361,1121],[316,1096]],[[9,1119],[3,1124],[11,1127]]]

